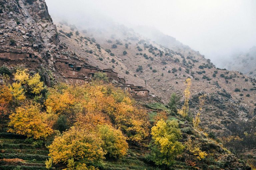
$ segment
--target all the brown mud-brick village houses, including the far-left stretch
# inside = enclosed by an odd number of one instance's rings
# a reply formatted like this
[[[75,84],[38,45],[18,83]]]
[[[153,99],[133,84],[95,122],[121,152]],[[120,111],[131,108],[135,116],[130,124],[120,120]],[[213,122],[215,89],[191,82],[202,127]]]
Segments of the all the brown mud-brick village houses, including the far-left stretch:
[[[34,53],[26,52],[7,52],[0,51],[0,59],[12,59],[12,60],[34,60],[39,62],[37,56]],[[142,86],[134,86],[133,84],[126,84],[124,78],[118,77],[118,73],[114,72],[112,69],[99,69],[89,65],[75,65],[70,63],[68,58],[53,57],[53,63],[55,69],[62,74],[69,83],[72,84],[84,84],[91,81],[94,74],[97,72],[106,73],[110,81],[115,80],[119,84],[119,88],[127,91],[131,96],[143,96],[147,97],[149,95],[149,90]]]

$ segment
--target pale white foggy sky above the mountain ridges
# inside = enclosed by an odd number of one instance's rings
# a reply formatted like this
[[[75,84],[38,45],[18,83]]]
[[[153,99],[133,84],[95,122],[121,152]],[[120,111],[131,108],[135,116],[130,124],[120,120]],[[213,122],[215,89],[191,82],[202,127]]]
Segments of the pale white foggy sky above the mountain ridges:
[[[45,0],[52,18],[70,24],[154,27],[221,67],[256,45],[255,0]]]

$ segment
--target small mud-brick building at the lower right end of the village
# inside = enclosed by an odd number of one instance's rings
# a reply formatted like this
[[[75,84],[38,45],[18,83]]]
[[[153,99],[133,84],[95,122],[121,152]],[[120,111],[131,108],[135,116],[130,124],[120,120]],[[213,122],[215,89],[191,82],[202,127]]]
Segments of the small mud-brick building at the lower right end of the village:
[[[142,86],[134,86],[133,84],[125,84],[124,86],[119,86],[122,90],[127,91],[131,96],[142,96],[147,97],[149,95],[149,90]]]

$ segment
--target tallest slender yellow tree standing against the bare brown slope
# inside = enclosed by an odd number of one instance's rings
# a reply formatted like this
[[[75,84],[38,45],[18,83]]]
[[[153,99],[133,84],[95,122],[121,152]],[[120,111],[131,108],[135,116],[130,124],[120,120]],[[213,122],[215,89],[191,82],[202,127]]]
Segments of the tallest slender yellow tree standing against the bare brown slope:
[[[184,101],[184,105],[181,107],[181,109],[178,111],[178,113],[183,117],[186,118],[188,116],[188,112],[189,112],[189,106],[188,106],[188,101],[190,98],[190,91],[189,88],[191,86],[191,79],[188,78],[184,84],[186,84],[186,89],[184,91],[184,96],[185,96],[185,101]]]

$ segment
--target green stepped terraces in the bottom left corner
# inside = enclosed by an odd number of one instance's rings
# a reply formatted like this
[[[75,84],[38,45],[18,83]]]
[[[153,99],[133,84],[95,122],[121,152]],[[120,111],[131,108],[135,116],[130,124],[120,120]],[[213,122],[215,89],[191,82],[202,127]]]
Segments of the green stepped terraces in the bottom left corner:
[[[25,137],[0,133],[0,170],[46,170],[48,150],[27,144]]]

